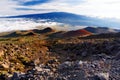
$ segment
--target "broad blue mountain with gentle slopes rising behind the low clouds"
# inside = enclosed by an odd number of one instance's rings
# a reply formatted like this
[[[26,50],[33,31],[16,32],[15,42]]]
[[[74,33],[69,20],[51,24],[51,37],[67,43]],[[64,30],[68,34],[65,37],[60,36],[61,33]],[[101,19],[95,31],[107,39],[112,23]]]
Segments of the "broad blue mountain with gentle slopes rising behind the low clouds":
[[[66,12],[51,12],[43,14],[28,14],[19,16],[9,16],[7,18],[30,18],[34,20],[47,19],[48,21],[59,22],[70,25],[81,26],[101,26],[101,27],[119,27],[120,23],[110,20],[87,17],[83,15],[76,15]]]

